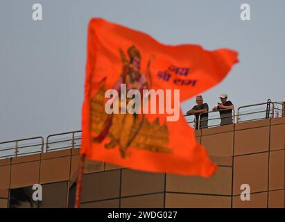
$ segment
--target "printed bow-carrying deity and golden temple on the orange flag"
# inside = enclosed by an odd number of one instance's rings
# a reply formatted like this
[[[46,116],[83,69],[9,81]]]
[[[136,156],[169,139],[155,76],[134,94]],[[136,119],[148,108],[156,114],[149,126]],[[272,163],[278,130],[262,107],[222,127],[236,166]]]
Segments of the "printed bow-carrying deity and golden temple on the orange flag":
[[[140,63],[141,55],[139,50],[134,46],[128,48],[128,58],[122,49],[119,49],[121,61],[123,63],[121,76],[116,81],[114,89],[118,92],[121,90],[121,84],[126,84],[127,91],[130,89],[138,89],[142,92],[143,89],[148,89],[151,85],[151,80],[147,81],[147,76],[141,73]],[[148,60],[148,71],[150,59]],[[171,149],[167,148],[169,144],[169,130],[166,124],[159,125],[159,119],[155,119],[150,123],[144,118],[144,114],[107,114],[104,110],[104,94],[105,78],[101,81],[101,86],[98,92],[90,101],[90,130],[97,133],[94,137],[94,142],[101,143],[105,137],[110,138],[110,142],[105,144],[106,149],[119,147],[121,157],[130,156],[127,153],[128,147],[132,146],[138,149],[147,151],[171,153]],[[120,93],[119,93],[120,94]],[[119,103],[121,110],[120,96],[115,98]],[[131,99],[127,98],[126,103]]]

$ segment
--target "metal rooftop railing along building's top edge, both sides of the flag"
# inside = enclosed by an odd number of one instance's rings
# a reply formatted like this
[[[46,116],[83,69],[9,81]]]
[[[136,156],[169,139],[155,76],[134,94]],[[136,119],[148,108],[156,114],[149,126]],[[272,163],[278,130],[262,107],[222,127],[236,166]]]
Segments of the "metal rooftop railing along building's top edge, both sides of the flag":
[[[232,112],[229,112],[229,114],[225,116],[223,116],[223,114],[221,115],[221,111],[223,112],[225,110],[232,110]],[[235,112],[234,109],[223,109],[204,112],[204,114],[205,113],[208,114],[208,118],[203,119],[201,118],[202,114],[199,114],[198,121],[196,121],[195,115],[184,115],[184,117],[193,128],[211,128],[244,121],[285,117],[285,104],[284,102],[272,102],[268,100],[267,103],[243,105],[237,109],[237,112]],[[203,121],[207,121],[207,124],[203,123]],[[0,159],[35,153],[46,153],[67,148],[80,148],[81,131],[76,130],[49,135],[45,141],[44,143],[44,137],[31,137],[0,142]]]

